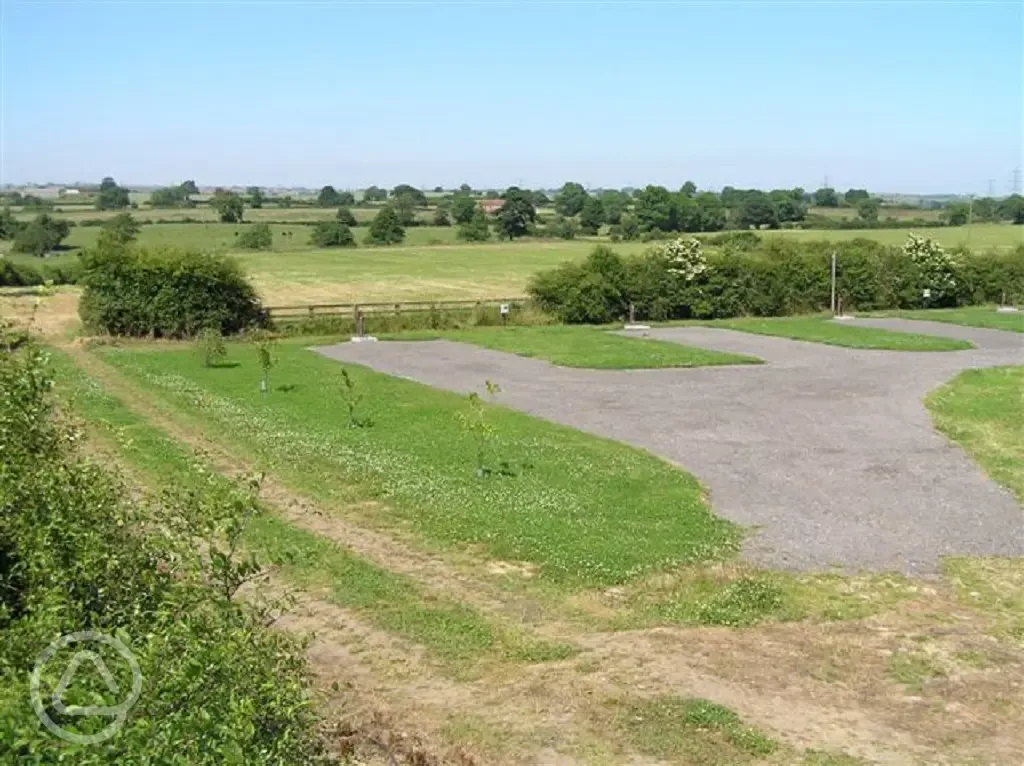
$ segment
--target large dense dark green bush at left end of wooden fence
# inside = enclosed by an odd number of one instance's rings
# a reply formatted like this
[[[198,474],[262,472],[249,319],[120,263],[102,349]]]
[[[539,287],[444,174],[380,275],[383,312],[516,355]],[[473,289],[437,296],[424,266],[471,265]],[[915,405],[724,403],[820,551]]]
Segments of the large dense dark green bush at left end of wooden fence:
[[[238,263],[187,250],[108,248],[83,256],[79,314],[111,335],[183,338],[267,324]]]

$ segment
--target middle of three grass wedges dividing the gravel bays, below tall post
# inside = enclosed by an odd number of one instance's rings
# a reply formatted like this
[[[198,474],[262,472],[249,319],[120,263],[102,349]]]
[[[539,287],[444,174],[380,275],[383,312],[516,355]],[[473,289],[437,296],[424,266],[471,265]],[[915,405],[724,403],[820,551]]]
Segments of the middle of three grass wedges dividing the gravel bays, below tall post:
[[[708,324],[711,327],[739,330],[744,333],[774,335],[846,348],[891,351],[957,351],[974,348],[971,343],[955,338],[939,338],[934,335],[896,333],[891,330],[857,327],[856,325],[833,322],[825,316],[722,320]]]

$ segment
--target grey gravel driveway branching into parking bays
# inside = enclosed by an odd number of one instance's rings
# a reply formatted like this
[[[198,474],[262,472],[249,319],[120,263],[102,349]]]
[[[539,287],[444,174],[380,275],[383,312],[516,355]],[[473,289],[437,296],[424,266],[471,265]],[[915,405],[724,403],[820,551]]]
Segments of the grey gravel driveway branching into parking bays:
[[[869,351],[711,328],[667,341],[763,366],[598,371],[449,341],[316,349],[640,446],[697,475],[715,511],[752,529],[744,555],[799,570],[934,571],[947,554],[1024,554],[1024,510],[937,433],[923,398],[967,368],[1024,364],[1024,336],[932,322],[861,326],[977,349]]]

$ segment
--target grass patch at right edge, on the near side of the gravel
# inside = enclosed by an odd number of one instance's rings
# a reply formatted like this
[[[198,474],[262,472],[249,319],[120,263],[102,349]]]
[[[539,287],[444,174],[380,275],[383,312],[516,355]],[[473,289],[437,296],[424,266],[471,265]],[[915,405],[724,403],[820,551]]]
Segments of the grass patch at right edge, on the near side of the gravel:
[[[1024,503],[1024,367],[968,370],[927,405],[936,427]]]

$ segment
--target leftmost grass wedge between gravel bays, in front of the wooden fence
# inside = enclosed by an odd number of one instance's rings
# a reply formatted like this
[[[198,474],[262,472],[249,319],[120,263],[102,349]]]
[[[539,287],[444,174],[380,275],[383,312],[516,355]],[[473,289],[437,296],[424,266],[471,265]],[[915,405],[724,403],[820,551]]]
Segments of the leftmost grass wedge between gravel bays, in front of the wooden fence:
[[[479,327],[449,332],[397,333],[391,340],[445,340],[547,359],[553,365],[592,370],[756,365],[754,356],[693,348],[680,343],[628,338],[589,327]]]

